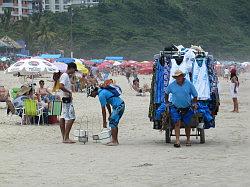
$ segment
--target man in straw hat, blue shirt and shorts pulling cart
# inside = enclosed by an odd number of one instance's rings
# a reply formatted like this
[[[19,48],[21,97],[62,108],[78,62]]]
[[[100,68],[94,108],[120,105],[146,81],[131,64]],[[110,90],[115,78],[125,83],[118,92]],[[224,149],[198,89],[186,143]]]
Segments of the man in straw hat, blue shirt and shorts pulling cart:
[[[173,123],[175,124],[175,136],[176,143],[174,147],[180,147],[180,127],[181,121],[185,124],[185,133],[187,136],[186,146],[191,146],[190,142],[190,121],[193,116],[193,109],[197,109],[197,97],[198,93],[194,87],[194,85],[185,79],[185,74],[177,70],[173,75],[175,81],[168,85],[166,89],[166,103],[169,104],[169,94],[171,94],[170,98],[170,106],[169,112]],[[193,99],[192,99],[193,98]]]

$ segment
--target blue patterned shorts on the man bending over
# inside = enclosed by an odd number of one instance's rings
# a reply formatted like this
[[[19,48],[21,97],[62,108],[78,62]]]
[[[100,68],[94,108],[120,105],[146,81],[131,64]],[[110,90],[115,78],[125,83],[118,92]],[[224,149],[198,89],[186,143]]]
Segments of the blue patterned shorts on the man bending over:
[[[125,111],[125,104],[122,103],[117,108],[113,109],[110,119],[109,119],[109,127],[114,129],[118,126],[120,119]]]

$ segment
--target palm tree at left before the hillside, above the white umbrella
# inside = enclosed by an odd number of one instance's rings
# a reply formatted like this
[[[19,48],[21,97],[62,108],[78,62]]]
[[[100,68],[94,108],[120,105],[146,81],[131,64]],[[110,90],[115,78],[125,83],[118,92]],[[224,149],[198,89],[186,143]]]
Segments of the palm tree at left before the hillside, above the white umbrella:
[[[56,33],[50,31],[46,23],[41,24],[39,31],[36,32],[36,35],[38,41],[41,43],[43,47],[43,52],[45,52],[51,47],[51,44],[56,37]]]

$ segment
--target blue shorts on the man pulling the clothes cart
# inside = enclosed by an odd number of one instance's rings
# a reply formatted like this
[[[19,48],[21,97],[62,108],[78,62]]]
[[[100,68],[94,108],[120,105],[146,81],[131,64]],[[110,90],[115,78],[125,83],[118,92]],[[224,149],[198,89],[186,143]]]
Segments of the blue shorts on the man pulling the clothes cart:
[[[194,111],[191,108],[187,113],[181,114],[174,106],[169,107],[169,113],[173,124],[176,124],[178,121],[183,121],[185,125],[190,125],[191,119],[194,115]]]

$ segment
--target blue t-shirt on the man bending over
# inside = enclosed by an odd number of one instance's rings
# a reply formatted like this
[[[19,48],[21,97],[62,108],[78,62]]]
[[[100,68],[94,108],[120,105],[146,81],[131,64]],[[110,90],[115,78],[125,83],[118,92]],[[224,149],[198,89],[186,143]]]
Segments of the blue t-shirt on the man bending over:
[[[115,109],[123,103],[120,97],[113,97],[113,93],[106,89],[100,88],[98,90],[98,97],[102,107],[110,104],[112,108]]]

